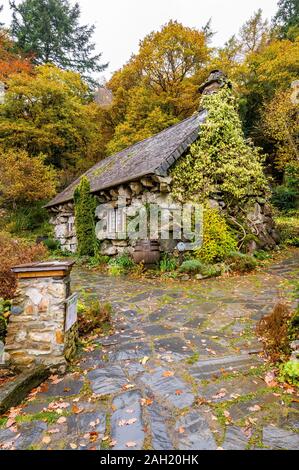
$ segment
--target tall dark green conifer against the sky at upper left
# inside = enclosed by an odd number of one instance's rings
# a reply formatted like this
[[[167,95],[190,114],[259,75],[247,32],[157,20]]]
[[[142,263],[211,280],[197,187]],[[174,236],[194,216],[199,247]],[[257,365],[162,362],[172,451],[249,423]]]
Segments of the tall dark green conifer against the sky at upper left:
[[[80,8],[68,0],[10,1],[11,33],[17,46],[37,64],[52,63],[83,75],[101,72],[101,54],[91,41],[95,26],[80,25]]]

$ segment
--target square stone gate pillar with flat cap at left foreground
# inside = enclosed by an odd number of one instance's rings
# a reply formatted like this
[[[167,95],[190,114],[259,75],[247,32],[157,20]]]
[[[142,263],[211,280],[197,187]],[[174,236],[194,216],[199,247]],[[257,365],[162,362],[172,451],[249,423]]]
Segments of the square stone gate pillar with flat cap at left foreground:
[[[14,266],[17,292],[5,351],[20,367],[65,365],[76,352],[76,297],[70,292],[74,262]]]

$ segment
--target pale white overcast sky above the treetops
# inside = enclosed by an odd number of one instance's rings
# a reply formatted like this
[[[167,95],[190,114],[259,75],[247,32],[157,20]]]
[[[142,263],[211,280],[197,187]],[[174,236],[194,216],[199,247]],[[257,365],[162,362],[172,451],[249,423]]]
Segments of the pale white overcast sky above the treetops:
[[[0,0],[1,3],[2,17],[9,25],[9,0]],[[170,19],[200,28],[212,18],[212,29],[216,31],[213,45],[220,46],[258,8],[268,19],[277,9],[277,0],[78,0],[78,3],[82,22],[96,26],[94,41],[103,53],[103,61],[109,62],[107,78],[137,52],[138,43],[146,34]]]

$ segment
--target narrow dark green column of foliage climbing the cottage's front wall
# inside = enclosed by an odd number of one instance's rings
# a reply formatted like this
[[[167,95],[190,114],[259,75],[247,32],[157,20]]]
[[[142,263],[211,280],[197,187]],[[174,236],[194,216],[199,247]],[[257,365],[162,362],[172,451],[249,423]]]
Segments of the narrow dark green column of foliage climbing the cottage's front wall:
[[[90,183],[86,176],[80,180],[74,193],[75,226],[79,256],[94,256],[97,252],[95,233],[95,197],[90,194]]]

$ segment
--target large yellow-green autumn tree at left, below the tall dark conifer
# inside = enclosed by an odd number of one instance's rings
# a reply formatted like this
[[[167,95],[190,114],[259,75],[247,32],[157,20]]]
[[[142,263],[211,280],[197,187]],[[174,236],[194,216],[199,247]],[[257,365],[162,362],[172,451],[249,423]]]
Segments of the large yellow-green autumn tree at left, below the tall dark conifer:
[[[37,66],[8,81],[0,106],[0,142],[32,156],[43,153],[47,164],[72,179],[101,156],[99,113],[79,74]]]

